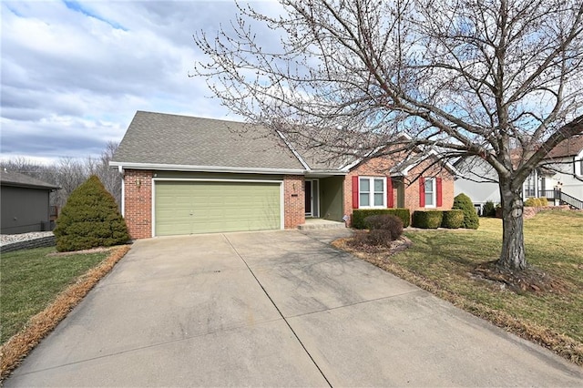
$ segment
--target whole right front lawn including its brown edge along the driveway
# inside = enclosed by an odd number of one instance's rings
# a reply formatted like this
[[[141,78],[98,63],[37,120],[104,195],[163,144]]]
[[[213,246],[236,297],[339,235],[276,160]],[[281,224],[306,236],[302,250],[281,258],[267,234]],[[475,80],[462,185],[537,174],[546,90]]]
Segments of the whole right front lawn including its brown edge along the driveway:
[[[406,230],[413,245],[357,256],[511,332],[583,364],[583,213],[547,211],[525,221],[527,261],[561,285],[556,291],[511,291],[476,276],[476,266],[496,260],[502,222],[480,219],[478,230]]]

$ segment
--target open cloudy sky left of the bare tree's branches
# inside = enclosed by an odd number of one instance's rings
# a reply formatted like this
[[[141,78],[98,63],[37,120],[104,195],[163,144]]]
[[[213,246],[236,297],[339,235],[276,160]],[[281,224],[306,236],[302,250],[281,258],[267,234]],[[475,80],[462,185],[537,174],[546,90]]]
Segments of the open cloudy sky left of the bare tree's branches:
[[[254,3],[274,6],[270,2]],[[98,155],[137,110],[240,119],[189,77],[231,1],[2,1],[1,158]]]

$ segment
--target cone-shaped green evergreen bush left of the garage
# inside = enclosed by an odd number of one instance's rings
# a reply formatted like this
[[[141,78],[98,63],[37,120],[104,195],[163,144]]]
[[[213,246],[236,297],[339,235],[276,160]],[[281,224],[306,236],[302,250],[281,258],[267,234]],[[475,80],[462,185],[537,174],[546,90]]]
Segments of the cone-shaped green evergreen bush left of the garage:
[[[95,175],[71,193],[53,233],[59,252],[110,247],[129,240],[116,200]]]

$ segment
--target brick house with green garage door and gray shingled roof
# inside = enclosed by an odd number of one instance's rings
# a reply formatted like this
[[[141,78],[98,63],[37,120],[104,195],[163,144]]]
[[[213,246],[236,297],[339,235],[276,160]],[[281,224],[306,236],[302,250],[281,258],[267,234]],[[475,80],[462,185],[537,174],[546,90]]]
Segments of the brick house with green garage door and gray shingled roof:
[[[110,166],[124,174],[133,239],[292,229],[350,220],[353,209],[451,209],[454,198],[454,168],[432,156],[401,170],[391,158],[334,167],[261,126],[142,111]]]

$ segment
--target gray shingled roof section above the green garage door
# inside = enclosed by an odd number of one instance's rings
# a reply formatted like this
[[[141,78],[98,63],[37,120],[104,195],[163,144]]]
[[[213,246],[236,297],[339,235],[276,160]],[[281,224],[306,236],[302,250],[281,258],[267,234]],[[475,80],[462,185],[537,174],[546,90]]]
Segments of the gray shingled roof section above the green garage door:
[[[269,129],[235,121],[138,111],[113,157],[118,163],[303,169]]]

